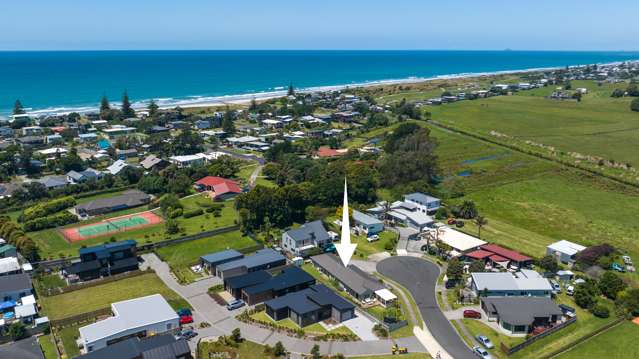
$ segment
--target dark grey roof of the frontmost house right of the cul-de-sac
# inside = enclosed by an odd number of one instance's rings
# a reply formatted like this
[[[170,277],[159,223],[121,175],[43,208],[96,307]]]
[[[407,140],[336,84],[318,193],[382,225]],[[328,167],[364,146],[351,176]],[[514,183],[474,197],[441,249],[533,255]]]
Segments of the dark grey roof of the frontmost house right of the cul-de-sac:
[[[530,325],[535,318],[562,315],[561,308],[547,297],[488,297],[481,299],[489,311],[512,325]]]

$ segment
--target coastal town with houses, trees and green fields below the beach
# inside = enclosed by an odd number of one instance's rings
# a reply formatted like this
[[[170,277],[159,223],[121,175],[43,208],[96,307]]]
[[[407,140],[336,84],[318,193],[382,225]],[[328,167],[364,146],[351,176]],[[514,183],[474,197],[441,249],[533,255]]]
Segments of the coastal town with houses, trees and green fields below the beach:
[[[615,136],[638,86],[629,61],[206,106],[17,100],[0,357],[570,359],[636,333],[637,142],[542,130]],[[587,117],[606,109],[624,126]],[[495,120],[516,111],[549,120]]]

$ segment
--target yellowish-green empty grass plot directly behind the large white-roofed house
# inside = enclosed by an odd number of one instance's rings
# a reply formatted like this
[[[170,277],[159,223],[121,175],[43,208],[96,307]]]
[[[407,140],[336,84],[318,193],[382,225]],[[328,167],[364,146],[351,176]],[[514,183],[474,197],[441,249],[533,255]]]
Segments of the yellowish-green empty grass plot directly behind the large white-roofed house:
[[[51,297],[41,297],[42,314],[51,320],[107,308],[113,302],[161,294],[175,309],[189,306],[169,289],[155,273],[126,278]]]

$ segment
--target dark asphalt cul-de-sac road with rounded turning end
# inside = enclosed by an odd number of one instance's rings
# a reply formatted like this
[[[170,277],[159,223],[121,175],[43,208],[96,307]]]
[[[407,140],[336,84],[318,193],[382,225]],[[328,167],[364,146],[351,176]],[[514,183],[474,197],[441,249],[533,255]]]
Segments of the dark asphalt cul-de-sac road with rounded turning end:
[[[377,264],[377,271],[410,291],[426,327],[450,355],[455,359],[477,359],[437,305],[439,268],[435,264],[415,257],[390,257]]]

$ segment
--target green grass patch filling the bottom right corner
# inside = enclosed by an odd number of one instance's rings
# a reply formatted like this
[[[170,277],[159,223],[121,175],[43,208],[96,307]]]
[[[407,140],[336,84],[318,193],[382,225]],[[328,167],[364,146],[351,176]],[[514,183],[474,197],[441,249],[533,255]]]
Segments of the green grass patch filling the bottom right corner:
[[[559,359],[639,358],[639,325],[623,322],[620,325],[577,345],[559,355]]]

